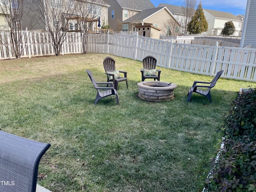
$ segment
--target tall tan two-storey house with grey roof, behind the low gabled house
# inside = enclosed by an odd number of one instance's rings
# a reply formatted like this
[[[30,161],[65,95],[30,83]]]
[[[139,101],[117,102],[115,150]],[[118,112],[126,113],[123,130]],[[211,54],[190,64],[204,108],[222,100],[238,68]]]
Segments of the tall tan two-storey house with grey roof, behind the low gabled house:
[[[108,22],[114,31],[135,31],[135,26],[123,24],[131,16],[143,10],[155,8],[150,0],[105,0],[109,5]]]

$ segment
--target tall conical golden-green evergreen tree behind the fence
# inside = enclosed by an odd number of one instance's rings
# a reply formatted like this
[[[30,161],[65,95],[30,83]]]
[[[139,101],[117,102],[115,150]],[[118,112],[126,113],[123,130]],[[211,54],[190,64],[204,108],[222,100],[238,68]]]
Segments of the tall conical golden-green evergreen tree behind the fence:
[[[198,4],[195,15],[192,17],[191,21],[188,23],[188,32],[192,34],[200,34],[208,30],[208,23],[204,16],[204,11],[202,8],[201,1]]]

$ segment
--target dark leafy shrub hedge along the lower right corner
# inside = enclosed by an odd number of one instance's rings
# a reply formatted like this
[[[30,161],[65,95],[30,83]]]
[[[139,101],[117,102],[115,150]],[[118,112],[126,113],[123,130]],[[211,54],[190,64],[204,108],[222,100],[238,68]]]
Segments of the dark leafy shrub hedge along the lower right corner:
[[[256,91],[240,94],[220,128],[224,149],[213,158],[205,180],[208,192],[256,192]]]

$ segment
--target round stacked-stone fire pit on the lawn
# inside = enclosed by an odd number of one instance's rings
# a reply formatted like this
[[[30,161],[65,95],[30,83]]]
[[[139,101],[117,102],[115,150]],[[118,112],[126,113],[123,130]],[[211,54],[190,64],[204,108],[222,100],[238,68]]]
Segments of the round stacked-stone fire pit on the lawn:
[[[174,98],[176,84],[160,81],[142,81],[137,83],[139,88],[138,97],[142,100],[160,102]]]

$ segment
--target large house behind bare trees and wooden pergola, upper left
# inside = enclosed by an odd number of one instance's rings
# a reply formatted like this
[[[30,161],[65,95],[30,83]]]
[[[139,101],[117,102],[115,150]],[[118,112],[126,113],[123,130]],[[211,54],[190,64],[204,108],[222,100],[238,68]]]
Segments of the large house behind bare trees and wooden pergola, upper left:
[[[103,0],[24,0],[22,28],[28,30],[47,30],[49,27],[67,31],[88,30],[98,28],[100,17],[102,23],[108,23],[109,5]],[[78,28],[81,20],[89,26]],[[49,23],[50,22],[50,23]]]

